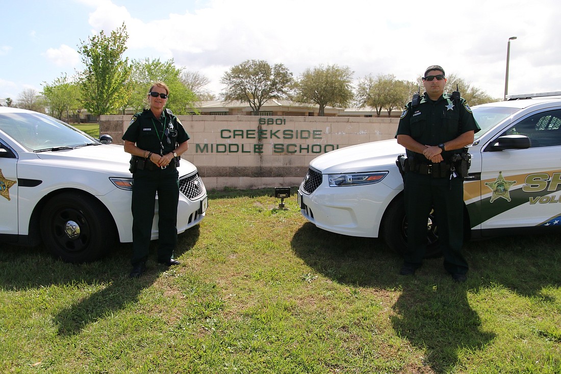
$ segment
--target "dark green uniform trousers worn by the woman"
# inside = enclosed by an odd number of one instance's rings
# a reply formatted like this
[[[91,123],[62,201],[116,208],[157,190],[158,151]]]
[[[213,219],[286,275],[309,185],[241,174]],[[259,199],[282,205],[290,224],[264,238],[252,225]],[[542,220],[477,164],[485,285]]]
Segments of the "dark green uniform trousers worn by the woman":
[[[158,193],[158,261],[173,257],[177,244],[178,172],[174,167],[137,170],[132,185],[131,262],[146,261],[150,249],[156,193]]]

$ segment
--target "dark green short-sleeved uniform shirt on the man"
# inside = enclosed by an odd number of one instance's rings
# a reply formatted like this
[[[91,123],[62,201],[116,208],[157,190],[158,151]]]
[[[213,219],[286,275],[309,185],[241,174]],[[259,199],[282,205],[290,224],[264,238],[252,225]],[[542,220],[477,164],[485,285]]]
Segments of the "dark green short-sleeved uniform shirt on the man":
[[[461,98],[457,103],[452,95],[443,94],[436,101],[432,101],[424,93],[419,105],[413,107],[408,102],[399,118],[397,135],[409,135],[417,142],[426,145],[438,145],[456,139],[467,131],[481,130],[470,106]],[[462,149],[443,153],[445,161],[449,161],[453,153],[461,153]],[[430,163],[422,153],[415,153],[407,149],[407,157],[414,157],[419,162]]]

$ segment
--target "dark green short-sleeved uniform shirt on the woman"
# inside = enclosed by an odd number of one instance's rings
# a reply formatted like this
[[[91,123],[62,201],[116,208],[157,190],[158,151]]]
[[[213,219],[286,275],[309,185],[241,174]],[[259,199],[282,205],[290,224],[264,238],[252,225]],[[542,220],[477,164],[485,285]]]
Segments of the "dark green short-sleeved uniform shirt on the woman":
[[[190,139],[183,129],[181,121],[169,110],[162,111],[160,118],[154,117],[154,113],[145,109],[136,113],[131,118],[123,140],[136,143],[140,149],[148,150],[157,154],[167,154]]]

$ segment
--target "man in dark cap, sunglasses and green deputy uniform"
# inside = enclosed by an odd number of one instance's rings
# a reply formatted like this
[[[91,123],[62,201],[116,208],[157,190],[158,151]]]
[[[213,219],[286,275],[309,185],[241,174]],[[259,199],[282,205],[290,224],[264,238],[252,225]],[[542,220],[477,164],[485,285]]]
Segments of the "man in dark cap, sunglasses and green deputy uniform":
[[[401,275],[422,264],[427,245],[427,218],[434,207],[444,268],[454,280],[466,280],[463,243],[463,178],[454,169],[454,153],[473,143],[480,130],[462,98],[444,93],[444,69],[429,66],[422,77],[425,93],[407,103],[399,120],[397,142],[407,149],[404,175],[407,252]],[[459,95],[458,95],[459,96]]]

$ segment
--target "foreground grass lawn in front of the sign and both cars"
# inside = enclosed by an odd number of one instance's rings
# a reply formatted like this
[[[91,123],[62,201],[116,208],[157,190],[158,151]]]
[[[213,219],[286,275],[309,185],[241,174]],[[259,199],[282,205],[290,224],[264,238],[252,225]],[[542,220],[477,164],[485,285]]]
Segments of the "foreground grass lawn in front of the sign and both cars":
[[[2,373],[561,373],[561,236],[465,245],[415,276],[379,239],[317,229],[296,199],[210,191],[181,265],[129,279],[130,244],[72,265],[0,252]]]

